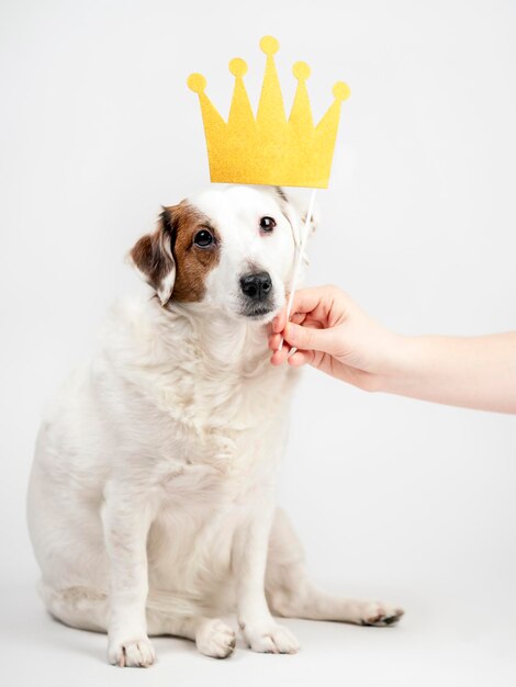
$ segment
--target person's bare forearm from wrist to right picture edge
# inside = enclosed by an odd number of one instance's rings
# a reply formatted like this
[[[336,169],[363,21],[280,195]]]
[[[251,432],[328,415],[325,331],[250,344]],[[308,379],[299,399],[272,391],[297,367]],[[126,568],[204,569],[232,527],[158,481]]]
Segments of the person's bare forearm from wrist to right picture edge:
[[[379,388],[448,405],[516,413],[516,331],[400,337]]]

